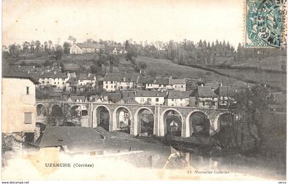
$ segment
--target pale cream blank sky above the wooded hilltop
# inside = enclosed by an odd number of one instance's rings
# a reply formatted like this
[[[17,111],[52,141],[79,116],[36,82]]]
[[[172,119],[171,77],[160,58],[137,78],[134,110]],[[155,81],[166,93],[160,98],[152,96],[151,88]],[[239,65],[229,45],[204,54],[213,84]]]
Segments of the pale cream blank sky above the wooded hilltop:
[[[243,42],[242,0],[3,0],[2,44],[71,35],[114,40]]]

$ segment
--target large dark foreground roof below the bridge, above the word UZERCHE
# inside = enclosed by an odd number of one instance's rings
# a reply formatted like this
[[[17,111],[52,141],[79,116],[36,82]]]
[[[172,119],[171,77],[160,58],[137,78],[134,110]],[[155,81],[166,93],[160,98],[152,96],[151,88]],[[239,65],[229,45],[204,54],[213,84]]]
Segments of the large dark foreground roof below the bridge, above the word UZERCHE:
[[[91,127],[46,127],[39,147],[67,145],[71,151],[87,151],[102,148],[101,136]]]

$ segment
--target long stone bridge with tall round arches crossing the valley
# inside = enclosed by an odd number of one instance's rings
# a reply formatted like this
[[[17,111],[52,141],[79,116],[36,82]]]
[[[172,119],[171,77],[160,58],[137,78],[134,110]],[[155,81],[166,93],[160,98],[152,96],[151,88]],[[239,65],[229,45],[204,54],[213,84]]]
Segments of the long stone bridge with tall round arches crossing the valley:
[[[139,135],[141,133],[141,122],[139,120],[139,112],[143,109],[150,111],[154,116],[153,133],[156,136],[165,136],[167,133],[166,116],[169,111],[174,111],[180,117],[182,121],[181,136],[190,137],[193,129],[191,128],[191,122],[189,122],[190,116],[195,113],[204,114],[209,123],[209,133],[213,134],[220,131],[219,117],[222,114],[229,114],[228,109],[208,109],[199,107],[177,107],[177,106],[165,106],[165,105],[132,105],[132,104],[116,104],[116,103],[91,103],[91,102],[64,102],[64,101],[36,101],[37,115],[36,122],[43,122],[47,118],[48,114],[54,109],[61,111],[61,114],[69,109],[81,106],[87,111],[86,118],[87,123],[82,124],[84,127],[97,127],[99,124],[99,109],[106,109],[109,114],[108,127],[109,131],[115,131],[119,128],[119,109],[125,109],[128,112],[130,118],[130,134]],[[39,112],[39,109],[42,109]],[[57,107],[57,108],[56,108]]]

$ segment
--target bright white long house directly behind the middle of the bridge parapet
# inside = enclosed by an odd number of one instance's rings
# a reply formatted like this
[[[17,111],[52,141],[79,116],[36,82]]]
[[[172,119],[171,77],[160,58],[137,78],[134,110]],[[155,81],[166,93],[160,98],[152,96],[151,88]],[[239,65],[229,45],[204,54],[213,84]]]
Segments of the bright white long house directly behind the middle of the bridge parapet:
[[[137,91],[135,101],[139,104],[164,105],[167,92]]]

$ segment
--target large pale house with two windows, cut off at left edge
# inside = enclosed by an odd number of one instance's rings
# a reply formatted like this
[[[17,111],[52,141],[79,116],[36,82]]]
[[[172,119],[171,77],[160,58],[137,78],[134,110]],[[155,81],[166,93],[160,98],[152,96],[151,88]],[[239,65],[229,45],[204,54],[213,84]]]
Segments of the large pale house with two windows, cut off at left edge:
[[[24,142],[34,142],[36,84],[38,81],[25,73],[3,71],[2,133],[19,133]]]

